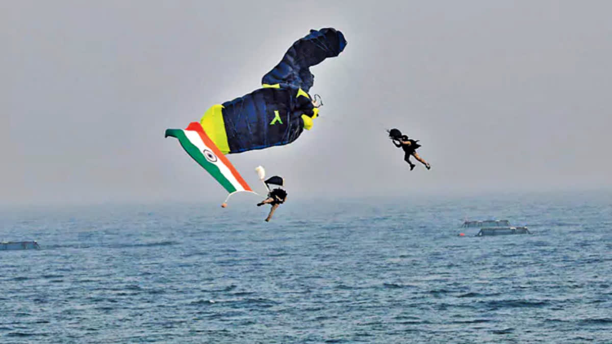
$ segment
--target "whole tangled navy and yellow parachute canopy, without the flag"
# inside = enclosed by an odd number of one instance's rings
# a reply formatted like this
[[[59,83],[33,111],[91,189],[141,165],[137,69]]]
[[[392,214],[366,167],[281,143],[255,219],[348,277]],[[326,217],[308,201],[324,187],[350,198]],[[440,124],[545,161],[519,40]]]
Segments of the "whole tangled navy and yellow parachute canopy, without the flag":
[[[310,130],[318,108],[308,94],[314,76],[310,67],[338,56],[346,46],[342,32],[311,30],[297,40],[283,59],[262,78],[263,88],[213,105],[200,120],[223,154],[264,149],[293,142]]]

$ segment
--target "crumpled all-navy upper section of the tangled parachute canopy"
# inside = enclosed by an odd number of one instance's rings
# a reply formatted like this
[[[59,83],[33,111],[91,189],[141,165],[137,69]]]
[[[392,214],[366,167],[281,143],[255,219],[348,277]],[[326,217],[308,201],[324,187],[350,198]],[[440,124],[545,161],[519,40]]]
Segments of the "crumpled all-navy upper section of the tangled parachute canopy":
[[[308,36],[293,43],[283,59],[261,79],[262,84],[286,84],[308,92],[312,87],[314,75],[310,67],[323,62],[326,58],[338,56],[346,47],[342,32],[334,28],[310,30]]]

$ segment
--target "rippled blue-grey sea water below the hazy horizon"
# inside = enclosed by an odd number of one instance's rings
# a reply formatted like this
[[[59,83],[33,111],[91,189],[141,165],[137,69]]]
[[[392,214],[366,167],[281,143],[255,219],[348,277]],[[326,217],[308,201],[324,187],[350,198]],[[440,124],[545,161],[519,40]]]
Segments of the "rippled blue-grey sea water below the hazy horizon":
[[[2,209],[0,342],[612,343],[612,193],[268,209]]]

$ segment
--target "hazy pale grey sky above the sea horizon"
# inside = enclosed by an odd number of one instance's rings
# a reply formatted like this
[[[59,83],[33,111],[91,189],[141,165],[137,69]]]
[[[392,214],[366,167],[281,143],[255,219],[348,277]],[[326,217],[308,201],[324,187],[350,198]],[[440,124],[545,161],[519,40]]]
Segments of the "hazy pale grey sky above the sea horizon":
[[[609,1],[1,1],[0,203],[223,200],[166,128],[259,87],[310,29],[324,107],[229,155],[292,198],[610,189]],[[384,129],[431,162],[414,171]]]

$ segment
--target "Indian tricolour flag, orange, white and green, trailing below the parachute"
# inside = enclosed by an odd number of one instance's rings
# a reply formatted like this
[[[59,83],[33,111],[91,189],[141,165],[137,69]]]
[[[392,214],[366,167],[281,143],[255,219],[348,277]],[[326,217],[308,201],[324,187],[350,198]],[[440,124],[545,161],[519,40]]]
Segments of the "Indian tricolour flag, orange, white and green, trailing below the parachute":
[[[219,184],[230,194],[239,191],[253,192],[230,160],[206,135],[200,123],[192,122],[184,130],[166,129],[166,137],[168,136],[177,138],[187,154],[208,171],[213,178],[217,179]]]

